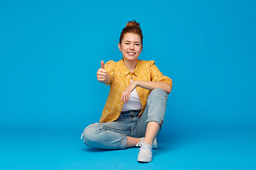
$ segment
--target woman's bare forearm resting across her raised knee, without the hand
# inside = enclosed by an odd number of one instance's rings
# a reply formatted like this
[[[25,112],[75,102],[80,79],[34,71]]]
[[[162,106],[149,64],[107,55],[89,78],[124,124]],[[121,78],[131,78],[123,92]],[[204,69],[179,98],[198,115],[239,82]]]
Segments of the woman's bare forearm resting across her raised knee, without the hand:
[[[164,81],[136,81],[137,86],[144,89],[163,89],[167,94],[171,93],[171,85]]]

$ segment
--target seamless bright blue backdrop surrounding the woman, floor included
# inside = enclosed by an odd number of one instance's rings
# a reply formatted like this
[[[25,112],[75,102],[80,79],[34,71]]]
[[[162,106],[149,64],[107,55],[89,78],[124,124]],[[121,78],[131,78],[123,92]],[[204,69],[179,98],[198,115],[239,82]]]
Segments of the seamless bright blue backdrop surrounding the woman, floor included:
[[[135,19],[144,34],[139,58],[154,60],[174,83],[159,139],[163,139],[163,146],[166,140],[165,147],[171,145],[176,152],[164,152],[169,162],[162,167],[210,169],[210,164],[213,169],[221,169],[220,163],[223,169],[256,169],[252,164],[256,151],[255,8],[255,1],[250,0],[1,1],[0,149],[4,162],[0,167],[92,168],[97,157],[125,152],[134,152],[133,163],[127,164],[137,167],[137,149],[88,151],[82,141],[75,140],[83,128],[100,119],[110,88],[97,81],[97,69],[101,60],[122,59],[117,47],[119,35],[127,21]],[[215,147],[209,147],[203,139],[215,141]],[[238,143],[230,145],[234,140]],[[182,145],[189,141],[193,145]],[[80,163],[68,164],[68,157],[55,162],[33,160],[33,155],[46,149],[55,149],[54,157],[60,158],[66,153],[63,142],[69,148],[68,155],[73,153],[73,159],[79,158]],[[74,145],[75,148],[70,147]],[[179,152],[186,146],[187,150]],[[217,163],[213,164],[209,159],[195,165],[195,153],[198,156],[203,147],[212,152],[240,148],[240,152],[228,152],[233,155],[231,159],[223,151],[211,155],[211,160],[218,157],[225,161],[215,160]],[[24,162],[24,153],[35,163]],[[48,154],[40,155],[38,160],[46,159]],[[161,159],[152,162],[152,168],[164,159],[163,153],[156,155]],[[190,156],[194,161],[184,163]],[[203,152],[198,160],[208,156]],[[91,159],[90,165],[86,157]],[[245,162],[231,166],[241,158]],[[104,167],[104,163],[97,164]],[[124,166],[125,163],[118,167]]]

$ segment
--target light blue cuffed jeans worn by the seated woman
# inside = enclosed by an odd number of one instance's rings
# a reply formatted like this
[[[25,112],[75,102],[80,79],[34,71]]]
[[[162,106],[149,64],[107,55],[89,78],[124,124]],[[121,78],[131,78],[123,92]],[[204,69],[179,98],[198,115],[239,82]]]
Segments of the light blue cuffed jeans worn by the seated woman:
[[[94,123],[83,131],[85,145],[100,149],[124,149],[127,136],[144,137],[147,123],[154,121],[160,127],[166,112],[167,94],[162,89],[154,89],[149,94],[146,107],[140,111],[122,111],[117,120],[109,123]]]

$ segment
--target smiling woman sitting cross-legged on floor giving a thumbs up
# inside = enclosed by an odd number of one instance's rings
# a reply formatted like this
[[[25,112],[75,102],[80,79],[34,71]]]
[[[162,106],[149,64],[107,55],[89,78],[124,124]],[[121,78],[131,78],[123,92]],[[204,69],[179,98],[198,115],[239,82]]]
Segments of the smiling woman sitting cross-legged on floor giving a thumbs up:
[[[100,123],[89,125],[82,136],[90,147],[141,147],[137,161],[151,162],[151,149],[157,148],[156,135],[164,120],[172,80],[159,72],[154,61],[138,60],[142,40],[139,23],[129,21],[119,38],[122,60],[106,64],[101,61],[97,80],[110,85],[110,94]]]

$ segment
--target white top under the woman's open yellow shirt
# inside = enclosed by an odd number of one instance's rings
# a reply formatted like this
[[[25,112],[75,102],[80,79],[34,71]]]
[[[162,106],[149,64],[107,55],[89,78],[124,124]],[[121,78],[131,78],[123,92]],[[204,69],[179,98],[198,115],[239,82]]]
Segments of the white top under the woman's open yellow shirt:
[[[132,79],[131,79],[132,83]],[[142,109],[142,103],[139,100],[139,95],[136,88],[131,92],[129,100],[127,103],[124,103],[122,111],[138,111]]]

